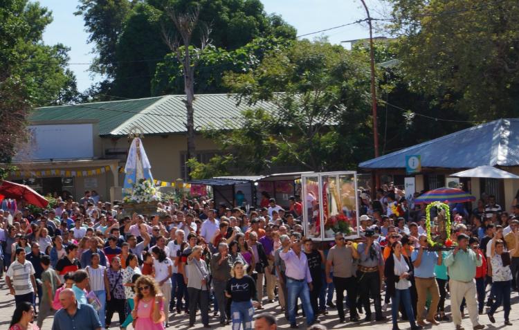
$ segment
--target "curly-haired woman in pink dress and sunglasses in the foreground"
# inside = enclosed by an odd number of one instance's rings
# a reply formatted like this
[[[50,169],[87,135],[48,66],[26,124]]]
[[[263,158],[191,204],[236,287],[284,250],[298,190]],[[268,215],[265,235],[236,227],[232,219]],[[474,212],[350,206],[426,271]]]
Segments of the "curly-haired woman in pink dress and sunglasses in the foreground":
[[[165,314],[163,296],[158,284],[151,276],[144,275],[135,282],[137,295],[131,311],[135,330],[164,330]]]

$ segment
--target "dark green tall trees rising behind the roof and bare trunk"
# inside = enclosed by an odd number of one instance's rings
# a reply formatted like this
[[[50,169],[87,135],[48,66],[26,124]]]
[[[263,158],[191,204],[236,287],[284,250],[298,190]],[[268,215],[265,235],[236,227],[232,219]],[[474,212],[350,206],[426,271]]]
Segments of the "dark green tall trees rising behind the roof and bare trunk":
[[[107,79],[86,92],[86,99],[107,95],[141,98],[174,91],[181,86],[181,66],[163,42],[163,28],[174,30],[165,8],[187,12],[199,6],[199,21],[212,30],[212,51],[202,59],[197,91],[223,91],[221,76],[233,67],[231,57],[246,65],[247,48],[257,38],[295,39],[295,28],[278,15],[266,15],[260,0],[82,0],[76,15],[84,17],[89,42],[98,54],[91,71]],[[192,37],[199,48],[199,31]],[[251,46],[253,47],[253,46]],[[237,53],[228,54],[230,51]],[[254,50],[252,50],[254,51]],[[200,55],[200,54],[199,54]],[[215,65],[221,68],[215,68]],[[240,68],[237,63],[237,69]]]

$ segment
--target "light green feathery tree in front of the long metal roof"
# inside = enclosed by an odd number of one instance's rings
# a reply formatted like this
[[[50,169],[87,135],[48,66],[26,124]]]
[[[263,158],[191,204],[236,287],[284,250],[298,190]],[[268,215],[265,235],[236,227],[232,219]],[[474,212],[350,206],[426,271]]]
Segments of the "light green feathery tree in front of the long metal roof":
[[[236,129],[211,136],[233,158],[229,166],[256,174],[275,165],[334,170],[372,154],[367,59],[304,40],[268,53],[255,70],[227,73],[225,84],[237,102],[256,109],[244,113],[244,122],[229,123]]]

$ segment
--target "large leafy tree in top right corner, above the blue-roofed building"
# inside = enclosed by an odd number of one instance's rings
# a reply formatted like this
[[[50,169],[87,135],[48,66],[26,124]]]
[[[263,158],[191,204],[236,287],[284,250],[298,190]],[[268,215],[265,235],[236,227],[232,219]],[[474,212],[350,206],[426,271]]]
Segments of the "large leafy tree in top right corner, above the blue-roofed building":
[[[519,3],[391,0],[399,59],[414,91],[459,119],[519,113]]]

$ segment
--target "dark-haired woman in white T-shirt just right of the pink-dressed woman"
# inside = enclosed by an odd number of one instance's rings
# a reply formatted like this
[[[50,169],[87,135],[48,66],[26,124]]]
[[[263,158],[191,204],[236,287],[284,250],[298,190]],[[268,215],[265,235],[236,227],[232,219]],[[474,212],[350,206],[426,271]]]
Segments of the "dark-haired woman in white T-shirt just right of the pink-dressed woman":
[[[158,246],[152,248],[153,255],[153,273],[158,286],[161,288],[164,296],[164,314],[166,315],[166,324],[169,319],[169,306],[171,300],[171,275],[173,273],[173,262],[166,256],[163,249]]]

